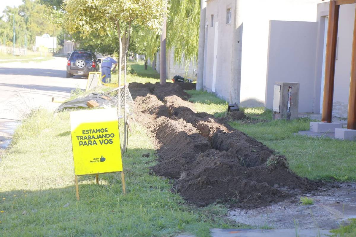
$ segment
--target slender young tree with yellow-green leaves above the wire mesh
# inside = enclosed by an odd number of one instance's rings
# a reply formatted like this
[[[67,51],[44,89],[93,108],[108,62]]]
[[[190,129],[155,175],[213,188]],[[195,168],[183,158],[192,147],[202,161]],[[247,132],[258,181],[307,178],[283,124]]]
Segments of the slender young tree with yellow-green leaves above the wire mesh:
[[[69,33],[80,32],[83,38],[90,33],[108,36],[116,30],[119,38],[119,64],[129,49],[131,27],[142,25],[158,33],[166,14],[164,0],[67,0],[64,27]],[[125,73],[126,75],[126,73]],[[119,80],[121,67],[119,67]]]

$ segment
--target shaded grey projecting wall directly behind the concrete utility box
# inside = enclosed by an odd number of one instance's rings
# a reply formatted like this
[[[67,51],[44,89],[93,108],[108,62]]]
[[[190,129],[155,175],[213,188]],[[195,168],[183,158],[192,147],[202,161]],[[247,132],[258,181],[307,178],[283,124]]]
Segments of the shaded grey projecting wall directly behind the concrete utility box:
[[[271,21],[266,107],[273,106],[276,81],[299,83],[299,112],[313,112],[317,22]]]

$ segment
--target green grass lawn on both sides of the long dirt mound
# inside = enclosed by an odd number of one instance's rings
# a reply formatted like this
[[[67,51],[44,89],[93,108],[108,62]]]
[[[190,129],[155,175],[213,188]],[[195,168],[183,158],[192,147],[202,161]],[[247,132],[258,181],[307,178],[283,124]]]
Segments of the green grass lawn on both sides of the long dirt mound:
[[[158,81],[143,63],[131,63],[128,81]],[[155,76],[150,76],[150,75]],[[213,94],[187,91],[198,111],[224,116],[227,103]],[[264,108],[243,108],[248,119],[231,126],[285,155],[290,168],[310,179],[355,180],[354,142],[309,138],[308,118],[272,121]],[[126,191],[120,174],[79,177],[75,197],[68,112],[53,116],[33,111],[17,128],[11,147],[0,154],[0,236],[174,236],[180,232],[210,236],[209,228],[237,228],[221,205],[197,208],[171,192],[171,181],[148,174],[155,148],[145,128],[135,124],[123,157]],[[150,153],[148,158],[142,157]],[[67,204],[69,205],[67,206]]]

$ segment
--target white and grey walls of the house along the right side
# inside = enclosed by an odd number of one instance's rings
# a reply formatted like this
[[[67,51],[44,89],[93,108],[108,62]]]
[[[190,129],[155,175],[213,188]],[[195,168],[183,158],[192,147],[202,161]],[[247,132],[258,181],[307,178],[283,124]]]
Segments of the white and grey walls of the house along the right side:
[[[241,105],[271,108],[271,85],[277,80],[295,81],[300,83],[300,112],[321,112],[324,27],[325,16],[329,13],[329,2],[321,0],[208,0],[205,90],[213,88],[213,62],[216,57],[216,94],[229,98],[231,68],[234,67],[231,65],[231,48],[235,42],[233,29],[225,21],[226,9],[231,7],[234,13],[237,1],[241,2],[243,19]],[[347,116],[354,17],[355,4],[340,6],[333,106],[333,114],[339,117]],[[268,41],[270,21],[274,24],[271,28],[274,35]],[[214,55],[216,22],[219,22],[218,51]]]

